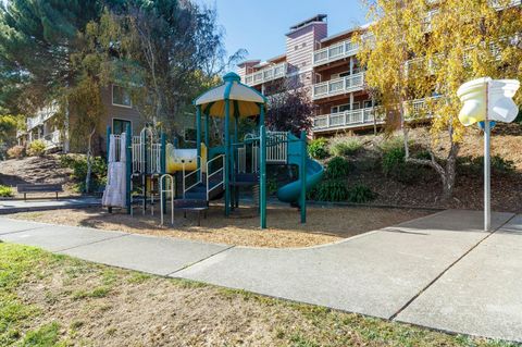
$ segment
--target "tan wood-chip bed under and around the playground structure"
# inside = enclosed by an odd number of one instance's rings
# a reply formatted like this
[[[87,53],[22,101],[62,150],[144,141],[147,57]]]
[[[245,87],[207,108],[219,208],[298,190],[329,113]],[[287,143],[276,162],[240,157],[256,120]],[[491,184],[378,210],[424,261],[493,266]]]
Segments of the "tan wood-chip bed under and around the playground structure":
[[[272,207],[268,211],[268,230],[259,228],[256,209],[241,208],[231,218],[223,208],[211,207],[207,219],[197,226],[197,215],[175,216],[174,226],[160,226],[157,213],[134,218],[124,213],[108,213],[102,209],[24,212],[12,218],[37,222],[89,226],[134,234],[178,237],[216,244],[252,247],[309,247],[323,245],[369,231],[395,225],[428,214],[427,211],[380,208],[309,208],[307,224],[299,223],[296,209]],[[165,216],[165,221],[169,220]]]

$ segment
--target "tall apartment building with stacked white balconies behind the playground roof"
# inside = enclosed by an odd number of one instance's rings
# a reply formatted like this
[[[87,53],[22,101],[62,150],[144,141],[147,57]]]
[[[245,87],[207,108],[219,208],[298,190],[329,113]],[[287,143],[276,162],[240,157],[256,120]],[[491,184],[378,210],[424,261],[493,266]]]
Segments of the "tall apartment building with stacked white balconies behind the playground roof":
[[[277,86],[287,87],[287,83],[306,88],[315,106],[314,135],[371,128],[382,121],[374,119],[353,40],[356,33],[364,30],[361,26],[328,36],[326,15],[315,15],[290,27],[284,54],[265,62],[243,62],[238,74],[266,96],[279,92]]]

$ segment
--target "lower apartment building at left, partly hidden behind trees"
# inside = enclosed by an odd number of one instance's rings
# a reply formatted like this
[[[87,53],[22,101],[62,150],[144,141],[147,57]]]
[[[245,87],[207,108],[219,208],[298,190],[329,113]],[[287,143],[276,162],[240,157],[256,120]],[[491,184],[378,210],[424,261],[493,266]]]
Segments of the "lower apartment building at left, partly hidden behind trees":
[[[105,113],[98,124],[95,151],[104,152],[108,126],[111,126],[114,134],[125,132],[127,124],[133,132],[139,132],[144,126],[144,120],[133,107],[130,96],[124,88],[111,85],[102,88],[100,92]],[[67,128],[74,128],[77,116],[79,115],[71,114],[69,124],[64,124],[64,116],[60,116],[60,107],[53,102],[27,119],[26,128],[18,131],[16,135],[18,145],[27,146],[35,140],[41,140],[48,151],[75,151],[75,142],[78,139],[71,139],[71,135],[65,135]]]

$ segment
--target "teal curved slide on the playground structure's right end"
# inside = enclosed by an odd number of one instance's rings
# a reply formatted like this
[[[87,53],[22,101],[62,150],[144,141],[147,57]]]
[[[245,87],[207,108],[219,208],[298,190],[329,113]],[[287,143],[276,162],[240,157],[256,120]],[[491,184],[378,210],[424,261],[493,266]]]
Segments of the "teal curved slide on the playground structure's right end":
[[[294,135],[288,135],[289,140],[297,140]],[[288,144],[288,164],[300,165],[301,156],[307,156],[307,191],[310,191],[323,178],[324,168],[318,161],[310,159],[308,153],[302,153],[300,142]],[[283,202],[297,202],[301,194],[301,177],[277,190],[277,199]]]

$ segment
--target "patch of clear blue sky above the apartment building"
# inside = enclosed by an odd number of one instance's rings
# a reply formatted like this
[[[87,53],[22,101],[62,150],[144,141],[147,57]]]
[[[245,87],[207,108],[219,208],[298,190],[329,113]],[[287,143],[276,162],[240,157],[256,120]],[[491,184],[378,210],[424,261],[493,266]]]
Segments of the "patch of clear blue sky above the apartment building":
[[[247,59],[284,53],[285,34],[294,24],[315,14],[328,15],[328,35],[365,24],[360,0],[197,0],[217,9],[228,54],[240,48]]]

